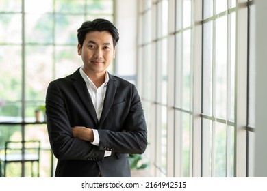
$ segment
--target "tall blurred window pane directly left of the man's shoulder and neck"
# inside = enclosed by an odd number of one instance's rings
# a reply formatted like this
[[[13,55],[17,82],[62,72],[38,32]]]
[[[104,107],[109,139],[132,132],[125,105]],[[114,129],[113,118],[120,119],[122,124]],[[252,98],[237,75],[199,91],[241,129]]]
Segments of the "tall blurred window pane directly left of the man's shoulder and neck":
[[[44,100],[51,81],[52,46],[26,46],[26,100]]]

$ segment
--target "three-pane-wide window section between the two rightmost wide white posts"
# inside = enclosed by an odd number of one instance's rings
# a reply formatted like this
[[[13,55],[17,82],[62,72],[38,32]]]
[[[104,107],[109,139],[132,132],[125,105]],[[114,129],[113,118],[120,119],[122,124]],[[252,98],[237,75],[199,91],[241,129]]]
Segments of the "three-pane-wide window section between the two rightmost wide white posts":
[[[236,9],[227,1],[203,7],[204,177],[233,177]]]

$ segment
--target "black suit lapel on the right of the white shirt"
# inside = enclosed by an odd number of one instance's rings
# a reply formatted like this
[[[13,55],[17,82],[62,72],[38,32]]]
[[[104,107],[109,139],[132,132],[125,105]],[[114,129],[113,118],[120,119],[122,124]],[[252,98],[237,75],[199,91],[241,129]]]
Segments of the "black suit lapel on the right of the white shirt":
[[[101,113],[101,117],[99,119],[99,124],[98,128],[101,127],[103,121],[105,121],[105,118],[107,117],[107,113],[109,113],[110,108],[113,104],[113,100],[115,98],[115,93],[116,93],[116,79],[109,74],[109,82],[107,83],[107,91],[105,92],[105,100],[104,100],[104,105],[103,105],[103,110]]]

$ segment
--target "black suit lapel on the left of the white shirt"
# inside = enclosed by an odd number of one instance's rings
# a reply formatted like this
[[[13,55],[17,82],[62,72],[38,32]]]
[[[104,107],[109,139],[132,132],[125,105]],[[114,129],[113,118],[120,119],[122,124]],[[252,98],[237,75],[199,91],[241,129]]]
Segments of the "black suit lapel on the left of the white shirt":
[[[95,113],[94,105],[92,104],[92,99],[90,98],[90,94],[88,93],[86,83],[81,77],[81,74],[79,74],[79,69],[73,73],[72,79],[74,89],[77,91],[79,97],[81,98],[81,101],[84,103],[84,105],[88,109],[90,116],[94,120],[94,123],[97,125],[97,113]]]

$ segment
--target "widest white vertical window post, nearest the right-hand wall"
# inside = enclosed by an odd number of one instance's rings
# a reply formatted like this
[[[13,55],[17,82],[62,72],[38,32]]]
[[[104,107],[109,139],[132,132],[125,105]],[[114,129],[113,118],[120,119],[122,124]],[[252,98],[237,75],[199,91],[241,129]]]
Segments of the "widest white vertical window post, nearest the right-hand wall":
[[[237,5],[247,3],[238,0]],[[236,98],[235,98],[235,173],[246,177],[246,81],[247,81],[247,7],[236,10]]]

